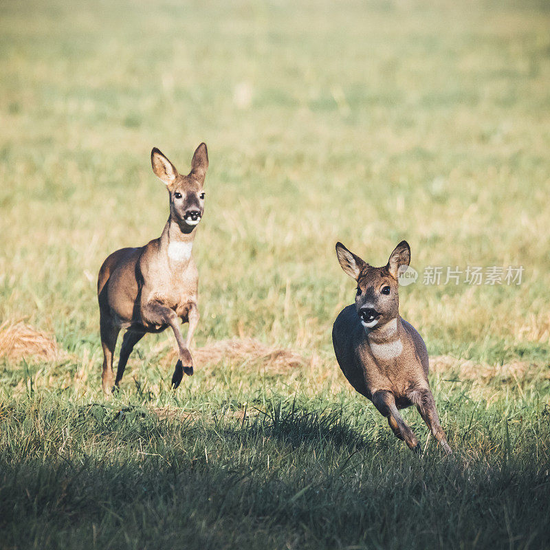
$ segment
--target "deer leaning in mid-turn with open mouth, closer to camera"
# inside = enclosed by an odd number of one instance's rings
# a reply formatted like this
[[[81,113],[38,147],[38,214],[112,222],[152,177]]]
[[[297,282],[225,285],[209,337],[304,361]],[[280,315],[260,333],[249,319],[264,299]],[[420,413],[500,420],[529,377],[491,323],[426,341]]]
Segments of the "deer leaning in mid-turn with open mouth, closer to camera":
[[[398,278],[410,264],[410,246],[401,241],[384,267],[369,265],[340,242],[336,255],[344,273],[357,282],[355,303],[340,311],[332,329],[342,373],[410,449],[421,454],[420,443],[399,410],[415,405],[445,453],[451,454],[428,382],[426,344],[399,316]]]

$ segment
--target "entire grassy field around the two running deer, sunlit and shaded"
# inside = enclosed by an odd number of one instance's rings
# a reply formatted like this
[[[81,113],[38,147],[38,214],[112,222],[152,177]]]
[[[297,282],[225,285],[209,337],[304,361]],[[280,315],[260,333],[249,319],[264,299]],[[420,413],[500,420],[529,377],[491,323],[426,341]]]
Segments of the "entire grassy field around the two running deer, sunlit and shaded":
[[[0,548],[550,548],[549,28],[533,0],[5,0]],[[98,268],[162,231],[151,148],[201,141],[195,376],[170,391],[148,336],[106,401]],[[401,239],[448,459],[333,356],[334,244]],[[522,284],[422,281],[494,265]]]

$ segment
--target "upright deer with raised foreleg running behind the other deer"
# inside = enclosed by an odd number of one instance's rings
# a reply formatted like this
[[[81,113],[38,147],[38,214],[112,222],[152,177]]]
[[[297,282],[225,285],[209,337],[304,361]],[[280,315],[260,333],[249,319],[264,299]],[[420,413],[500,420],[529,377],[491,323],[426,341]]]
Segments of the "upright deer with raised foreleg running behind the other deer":
[[[168,190],[170,214],[164,230],[158,239],[144,246],[116,250],[107,256],[99,270],[102,389],[105,395],[118,389],[135,344],[146,333],[159,333],[168,327],[174,333],[178,354],[172,387],[179,386],[184,373],[193,373],[189,346],[199,322],[199,274],[191,251],[204,212],[203,186],[208,170],[206,144],[197,147],[188,175],[179,174],[156,147],[151,151],[151,166]],[[181,336],[180,322],[188,322],[186,340]],[[113,354],[122,329],[126,332],[113,385]]]

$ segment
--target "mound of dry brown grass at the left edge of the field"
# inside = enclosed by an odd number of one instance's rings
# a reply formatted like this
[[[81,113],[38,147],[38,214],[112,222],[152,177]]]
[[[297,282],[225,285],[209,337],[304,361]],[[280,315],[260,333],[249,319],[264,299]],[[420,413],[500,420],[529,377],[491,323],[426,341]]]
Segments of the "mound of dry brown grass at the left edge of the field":
[[[0,325],[0,358],[12,361],[55,361],[61,351],[55,338],[37,331],[23,321],[4,321]]]

